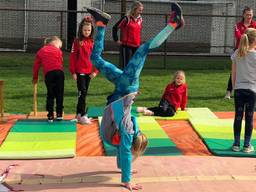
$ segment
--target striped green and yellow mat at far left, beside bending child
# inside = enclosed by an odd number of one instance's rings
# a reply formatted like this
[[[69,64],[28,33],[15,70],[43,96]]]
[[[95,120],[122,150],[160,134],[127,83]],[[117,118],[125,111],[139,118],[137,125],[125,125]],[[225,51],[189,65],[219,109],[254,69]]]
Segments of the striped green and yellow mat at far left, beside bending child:
[[[74,157],[76,123],[18,120],[0,147],[0,159]]]

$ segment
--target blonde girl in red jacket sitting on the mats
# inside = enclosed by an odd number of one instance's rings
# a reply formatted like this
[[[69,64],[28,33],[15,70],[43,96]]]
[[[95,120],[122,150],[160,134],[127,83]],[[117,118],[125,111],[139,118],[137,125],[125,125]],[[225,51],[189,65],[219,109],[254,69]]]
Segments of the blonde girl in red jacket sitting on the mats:
[[[138,107],[144,115],[171,117],[178,108],[185,110],[187,105],[187,84],[184,71],[176,71],[172,81],[166,86],[162,99],[157,107]]]

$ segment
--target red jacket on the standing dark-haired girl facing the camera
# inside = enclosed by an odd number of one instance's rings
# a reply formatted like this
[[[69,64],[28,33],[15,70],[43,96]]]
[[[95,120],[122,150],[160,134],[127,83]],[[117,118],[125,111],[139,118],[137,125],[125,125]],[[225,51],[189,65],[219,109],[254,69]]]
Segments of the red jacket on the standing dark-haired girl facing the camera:
[[[69,70],[71,74],[98,73],[98,70],[92,65],[90,60],[92,49],[93,40],[91,38],[84,38],[81,42],[78,39],[74,40],[69,57]]]

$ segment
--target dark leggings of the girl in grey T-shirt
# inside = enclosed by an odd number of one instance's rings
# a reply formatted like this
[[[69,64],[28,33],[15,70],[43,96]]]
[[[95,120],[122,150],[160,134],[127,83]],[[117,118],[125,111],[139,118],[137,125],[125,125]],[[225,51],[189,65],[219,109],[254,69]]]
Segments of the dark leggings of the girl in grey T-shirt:
[[[253,115],[256,100],[256,93],[250,89],[236,89],[235,96],[235,119],[233,124],[234,129],[234,145],[240,146],[240,134],[242,127],[243,115],[245,112],[245,134],[244,147],[250,145],[250,140],[253,130]]]

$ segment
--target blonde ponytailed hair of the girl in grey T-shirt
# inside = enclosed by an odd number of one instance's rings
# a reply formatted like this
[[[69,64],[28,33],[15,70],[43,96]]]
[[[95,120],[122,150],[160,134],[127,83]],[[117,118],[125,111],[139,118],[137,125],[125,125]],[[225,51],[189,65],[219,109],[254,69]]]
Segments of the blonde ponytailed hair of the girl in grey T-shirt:
[[[243,57],[247,55],[250,45],[252,45],[256,40],[256,29],[248,28],[245,33],[241,36],[239,47],[238,47],[238,57]]]

